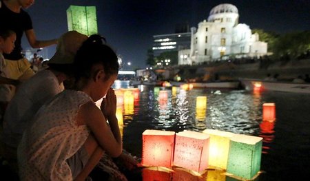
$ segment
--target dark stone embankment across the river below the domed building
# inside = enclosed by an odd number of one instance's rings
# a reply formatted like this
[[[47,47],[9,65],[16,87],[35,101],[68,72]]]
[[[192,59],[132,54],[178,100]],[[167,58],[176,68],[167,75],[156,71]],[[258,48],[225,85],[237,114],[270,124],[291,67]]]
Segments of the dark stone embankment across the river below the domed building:
[[[310,75],[310,58],[293,61],[262,62],[253,61],[250,63],[222,62],[212,65],[179,66],[169,70],[167,79],[172,79],[178,74],[184,80],[192,81],[227,81],[238,80],[239,78],[263,79],[270,74],[278,75],[279,81],[292,81],[298,76]]]

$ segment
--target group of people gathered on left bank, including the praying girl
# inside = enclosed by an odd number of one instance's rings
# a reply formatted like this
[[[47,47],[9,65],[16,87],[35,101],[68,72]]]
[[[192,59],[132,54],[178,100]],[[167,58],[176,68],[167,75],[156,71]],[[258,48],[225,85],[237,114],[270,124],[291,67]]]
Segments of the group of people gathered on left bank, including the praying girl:
[[[111,88],[116,52],[100,34],[76,31],[37,40],[24,10],[34,0],[0,0],[2,156],[17,162],[19,180],[128,180],[138,161],[123,149]],[[21,54],[56,45],[50,61]],[[103,98],[104,97],[104,98]],[[101,107],[95,102],[103,98]],[[136,173],[136,172],[135,172]]]

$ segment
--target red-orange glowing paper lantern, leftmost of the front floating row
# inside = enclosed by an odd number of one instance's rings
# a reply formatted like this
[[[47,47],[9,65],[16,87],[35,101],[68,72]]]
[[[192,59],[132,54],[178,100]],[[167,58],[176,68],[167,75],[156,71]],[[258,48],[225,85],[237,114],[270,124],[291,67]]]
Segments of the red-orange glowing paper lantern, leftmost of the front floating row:
[[[142,134],[142,164],[172,167],[174,136],[174,131],[145,130]]]

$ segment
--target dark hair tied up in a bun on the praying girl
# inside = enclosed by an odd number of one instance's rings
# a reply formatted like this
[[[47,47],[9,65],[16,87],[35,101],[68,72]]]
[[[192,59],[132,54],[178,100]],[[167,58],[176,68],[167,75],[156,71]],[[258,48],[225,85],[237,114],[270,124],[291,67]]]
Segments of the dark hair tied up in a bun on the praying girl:
[[[92,66],[103,65],[103,70],[109,78],[118,73],[118,58],[112,48],[105,44],[105,39],[99,34],[91,35],[81,45],[74,58],[74,77],[76,81],[80,78],[90,78]]]

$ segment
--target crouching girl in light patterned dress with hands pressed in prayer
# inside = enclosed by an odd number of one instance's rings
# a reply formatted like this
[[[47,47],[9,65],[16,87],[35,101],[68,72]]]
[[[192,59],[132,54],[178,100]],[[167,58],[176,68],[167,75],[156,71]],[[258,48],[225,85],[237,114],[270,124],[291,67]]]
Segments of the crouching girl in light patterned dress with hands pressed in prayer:
[[[117,74],[115,52],[101,36],[90,36],[76,53],[72,89],[45,103],[23,133],[17,151],[21,180],[85,180],[103,153],[121,155],[110,88]],[[99,109],[94,102],[103,96]]]

